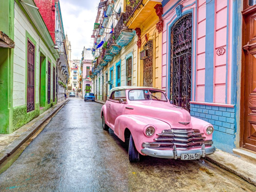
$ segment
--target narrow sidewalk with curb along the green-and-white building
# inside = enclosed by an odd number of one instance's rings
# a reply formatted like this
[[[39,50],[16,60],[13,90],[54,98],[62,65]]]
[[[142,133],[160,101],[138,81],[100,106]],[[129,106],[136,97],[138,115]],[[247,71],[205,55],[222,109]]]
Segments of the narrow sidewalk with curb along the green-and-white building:
[[[20,146],[25,143],[46,121],[49,121],[69,100],[60,102],[49,108],[42,115],[15,130],[11,134],[0,134],[0,165]]]

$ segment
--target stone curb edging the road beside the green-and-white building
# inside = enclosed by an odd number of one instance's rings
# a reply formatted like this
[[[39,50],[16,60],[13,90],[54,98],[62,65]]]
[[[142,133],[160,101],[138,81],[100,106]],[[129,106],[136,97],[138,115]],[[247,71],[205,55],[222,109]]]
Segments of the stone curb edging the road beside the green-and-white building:
[[[45,115],[42,119],[37,121],[33,126],[31,126],[26,132],[22,133],[20,137],[16,138],[12,143],[10,143],[3,151],[0,157],[0,165],[10,156],[12,155],[20,146],[25,143],[38,129],[49,119],[53,118],[57,112],[67,104],[69,100],[63,102],[63,104],[59,105],[58,107],[54,108],[52,112],[49,112],[48,115]]]

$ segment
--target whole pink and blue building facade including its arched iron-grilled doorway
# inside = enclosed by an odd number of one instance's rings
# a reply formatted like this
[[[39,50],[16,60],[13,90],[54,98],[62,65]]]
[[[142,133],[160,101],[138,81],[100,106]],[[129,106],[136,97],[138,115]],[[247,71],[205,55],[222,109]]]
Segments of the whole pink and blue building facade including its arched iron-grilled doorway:
[[[240,140],[236,94],[241,74],[235,57],[238,53],[241,62],[241,51],[236,51],[241,42],[235,41],[241,37],[242,6],[232,0],[162,4],[162,88],[174,104],[213,124],[214,145],[232,152]]]

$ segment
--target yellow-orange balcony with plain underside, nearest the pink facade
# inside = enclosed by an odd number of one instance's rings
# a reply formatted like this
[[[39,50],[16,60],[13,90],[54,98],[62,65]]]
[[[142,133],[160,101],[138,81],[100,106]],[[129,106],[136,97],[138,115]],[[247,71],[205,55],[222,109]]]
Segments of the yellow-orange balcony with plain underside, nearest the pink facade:
[[[156,16],[156,5],[161,4],[159,0],[126,0],[126,26],[129,29],[143,26]]]

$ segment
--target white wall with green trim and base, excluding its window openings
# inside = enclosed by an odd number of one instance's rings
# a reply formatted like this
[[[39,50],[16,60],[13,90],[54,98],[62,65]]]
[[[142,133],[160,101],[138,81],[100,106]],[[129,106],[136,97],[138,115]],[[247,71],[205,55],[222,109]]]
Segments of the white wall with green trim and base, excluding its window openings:
[[[53,66],[56,61],[53,55],[40,39],[32,24],[27,20],[20,7],[15,4],[14,18],[15,49],[13,56],[13,129],[18,129],[40,114],[39,82],[40,82],[40,52],[46,57],[46,63],[51,62],[51,104],[46,104],[43,111],[55,104],[53,101]],[[35,45],[35,110],[26,112],[27,96],[27,38]],[[40,43],[39,43],[40,42]],[[46,69],[47,70],[47,69]],[[46,79],[47,80],[47,79]],[[46,82],[47,85],[47,82]],[[45,91],[47,88],[45,88]],[[46,94],[47,95],[47,94]]]

